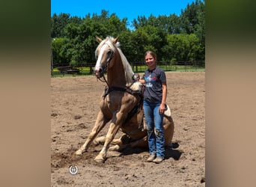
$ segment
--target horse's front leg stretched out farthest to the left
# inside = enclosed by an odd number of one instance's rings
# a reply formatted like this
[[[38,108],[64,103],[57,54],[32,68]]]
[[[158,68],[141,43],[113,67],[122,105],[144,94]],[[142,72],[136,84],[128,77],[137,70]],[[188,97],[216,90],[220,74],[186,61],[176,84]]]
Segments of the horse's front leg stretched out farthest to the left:
[[[83,144],[82,147],[80,147],[80,149],[75,152],[76,155],[82,155],[82,153],[88,150],[88,147],[90,146],[91,142],[100,132],[100,130],[103,129],[106,123],[107,123],[107,120],[104,118],[103,112],[100,111],[97,115],[97,120],[94,124],[94,128],[91,130],[91,133],[88,135],[88,138],[86,139],[85,144]]]

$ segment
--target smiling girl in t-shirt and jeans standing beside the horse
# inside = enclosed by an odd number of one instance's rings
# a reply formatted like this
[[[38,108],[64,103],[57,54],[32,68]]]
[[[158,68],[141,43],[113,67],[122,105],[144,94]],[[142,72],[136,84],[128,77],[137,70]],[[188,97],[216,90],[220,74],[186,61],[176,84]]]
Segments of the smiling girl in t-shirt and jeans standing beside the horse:
[[[167,95],[166,77],[165,72],[156,67],[154,52],[147,51],[144,58],[148,69],[139,81],[145,85],[143,107],[150,153],[147,162],[160,163],[165,159],[162,119]]]

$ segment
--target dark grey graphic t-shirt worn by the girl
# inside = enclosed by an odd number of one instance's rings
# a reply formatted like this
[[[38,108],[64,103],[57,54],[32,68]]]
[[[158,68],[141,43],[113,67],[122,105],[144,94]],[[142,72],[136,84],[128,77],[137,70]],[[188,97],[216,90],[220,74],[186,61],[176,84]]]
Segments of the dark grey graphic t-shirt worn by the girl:
[[[166,82],[165,72],[158,67],[153,70],[146,70],[142,79],[146,82],[144,100],[162,102],[162,82]]]

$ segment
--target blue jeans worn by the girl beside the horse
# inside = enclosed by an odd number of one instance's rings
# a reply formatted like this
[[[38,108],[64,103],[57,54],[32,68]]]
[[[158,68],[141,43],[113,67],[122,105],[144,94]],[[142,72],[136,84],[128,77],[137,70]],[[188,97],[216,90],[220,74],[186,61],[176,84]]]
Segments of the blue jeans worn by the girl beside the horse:
[[[144,116],[147,123],[147,141],[150,154],[165,156],[165,138],[163,133],[163,114],[159,114],[160,102],[144,100]],[[156,129],[156,132],[154,131]]]

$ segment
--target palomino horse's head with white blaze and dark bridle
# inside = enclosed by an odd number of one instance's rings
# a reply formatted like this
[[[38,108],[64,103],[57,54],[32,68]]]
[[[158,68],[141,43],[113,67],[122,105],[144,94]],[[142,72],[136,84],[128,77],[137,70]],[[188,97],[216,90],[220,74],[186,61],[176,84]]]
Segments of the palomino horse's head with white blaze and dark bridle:
[[[100,44],[95,51],[97,63],[94,68],[94,73],[97,78],[100,78],[112,67],[111,61],[115,57],[115,52],[117,51],[115,44],[118,43],[119,37],[116,37],[115,39],[106,37],[105,40],[96,37],[96,39]]]

